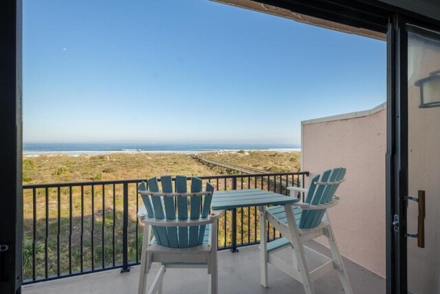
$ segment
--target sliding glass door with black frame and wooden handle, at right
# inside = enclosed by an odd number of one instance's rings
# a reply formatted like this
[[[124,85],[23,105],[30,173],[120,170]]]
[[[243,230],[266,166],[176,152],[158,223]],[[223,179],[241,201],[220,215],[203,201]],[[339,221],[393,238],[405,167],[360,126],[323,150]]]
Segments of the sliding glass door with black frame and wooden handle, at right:
[[[388,291],[440,293],[440,33],[388,32]]]

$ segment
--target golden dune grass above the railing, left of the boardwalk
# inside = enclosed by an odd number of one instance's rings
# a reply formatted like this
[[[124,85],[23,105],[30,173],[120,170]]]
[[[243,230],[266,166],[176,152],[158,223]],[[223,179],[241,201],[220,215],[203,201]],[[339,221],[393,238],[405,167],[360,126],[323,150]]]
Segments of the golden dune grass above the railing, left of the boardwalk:
[[[213,171],[186,154],[41,155],[23,158],[23,184],[144,179],[182,174],[208,176]]]

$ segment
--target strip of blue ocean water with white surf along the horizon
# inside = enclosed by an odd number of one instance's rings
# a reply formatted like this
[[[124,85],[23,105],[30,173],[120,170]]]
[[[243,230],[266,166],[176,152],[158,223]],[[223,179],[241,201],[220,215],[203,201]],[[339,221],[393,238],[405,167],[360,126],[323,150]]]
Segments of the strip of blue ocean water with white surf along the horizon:
[[[183,153],[239,150],[300,150],[299,144],[155,144],[155,143],[23,143],[24,155],[39,154],[109,154],[122,153]]]

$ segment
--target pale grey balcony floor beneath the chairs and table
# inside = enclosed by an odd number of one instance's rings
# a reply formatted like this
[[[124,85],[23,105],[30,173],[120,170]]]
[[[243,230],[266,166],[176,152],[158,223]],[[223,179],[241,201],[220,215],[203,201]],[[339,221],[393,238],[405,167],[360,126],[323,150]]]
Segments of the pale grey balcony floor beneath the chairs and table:
[[[311,248],[329,255],[329,250],[316,242]],[[260,285],[259,251],[257,246],[239,249],[239,253],[219,251],[219,293],[305,293],[303,285],[269,265],[269,288]],[[287,252],[278,251],[285,255]],[[307,258],[307,257],[306,257]],[[383,277],[345,259],[345,266],[354,293],[386,293]],[[310,264],[314,268],[314,264]],[[60,280],[23,286],[23,294],[84,294],[137,293],[140,266],[129,273],[120,269],[91,273]],[[153,281],[155,266],[148,275],[148,286]],[[338,273],[332,271],[315,282],[316,293],[344,293]],[[207,293],[208,275],[205,269],[168,269],[164,278],[164,293]]]

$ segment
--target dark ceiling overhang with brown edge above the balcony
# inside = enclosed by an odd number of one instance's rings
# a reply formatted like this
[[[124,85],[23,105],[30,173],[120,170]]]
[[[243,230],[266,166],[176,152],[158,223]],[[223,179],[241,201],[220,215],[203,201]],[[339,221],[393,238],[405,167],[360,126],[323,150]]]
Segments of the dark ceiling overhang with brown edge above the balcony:
[[[421,21],[436,23],[418,14],[416,10],[404,10],[393,6],[397,0],[213,0],[241,8],[246,8],[278,17],[285,17],[318,25],[331,30],[359,34],[374,39],[385,40],[388,18],[394,12]],[[418,2],[411,0],[412,2]],[[428,0],[424,0],[428,1]],[[437,1],[437,0],[436,0]],[[417,8],[417,5],[412,4]],[[421,6],[421,4],[419,4]],[[440,1],[439,4],[440,11]],[[440,16],[439,16],[440,19]]]

